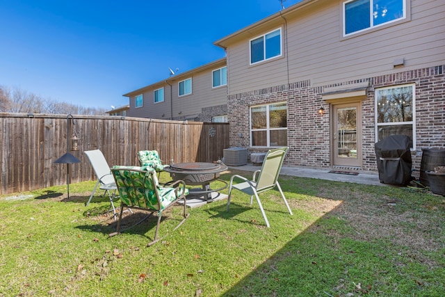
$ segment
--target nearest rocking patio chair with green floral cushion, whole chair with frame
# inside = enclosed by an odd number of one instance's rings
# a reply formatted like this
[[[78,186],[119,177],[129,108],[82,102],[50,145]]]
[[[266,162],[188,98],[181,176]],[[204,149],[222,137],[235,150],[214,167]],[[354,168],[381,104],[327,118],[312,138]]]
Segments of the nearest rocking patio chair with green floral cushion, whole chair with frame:
[[[150,214],[156,214],[158,216],[154,239],[148,243],[147,246],[151,246],[167,236],[167,234],[165,234],[161,238],[158,237],[163,211],[172,207],[180,200],[184,200],[184,219],[181,220],[174,230],[188,218],[186,209],[188,188],[186,188],[184,181],[179,180],[169,186],[160,186],[156,177],[156,171],[149,166],[113,166],[111,172],[118,186],[120,214],[116,232],[110,234],[110,236],[119,233],[124,207],[150,211]]]

